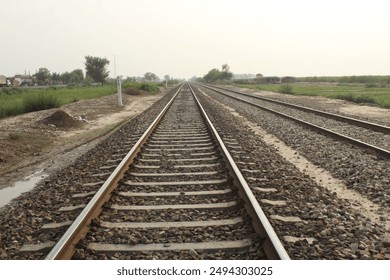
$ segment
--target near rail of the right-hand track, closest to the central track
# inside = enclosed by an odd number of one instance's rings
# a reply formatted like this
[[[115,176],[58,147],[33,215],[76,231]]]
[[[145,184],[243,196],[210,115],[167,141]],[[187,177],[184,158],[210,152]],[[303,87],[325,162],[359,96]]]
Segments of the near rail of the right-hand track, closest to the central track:
[[[247,101],[247,100],[244,100],[244,99],[241,99],[239,97],[235,97],[235,96],[231,96],[229,94],[226,94],[224,92],[221,92],[219,90],[216,90],[216,89],[213,89],[213,88],[210,88],[210,87],[207,87],[205,86],[206,88],[209,88],[217,93],[220,93],[220,94],[223,94],[225,96],[228,96],[232,99],[236,99],[236,100],[239,100],[241,102],[244,102],[244,103],[247,103],[247,104],[250,104],[252,106],[255,106],[257,108],[260,108],[262,110],[265,110],[265,111],[268,111],[268,112],[271,112],[273,114],[276,114],[276,115],[279,115],[281,117],[284,117],[286,119],[289,119],[289,120],[292,120],[292,121],[295,121],[297,122],[298,124],[302,125],[302,126],[305,126],[309,129],[312,129],[314,131],[317,131],[321,134],[325,134],[327,136],[330,136],[334,139],[339,139],[339,140],[342,140],[342,141],[346,141],[348,143],[351,143],[357,147],[361,147],[361,148],[364,148],[364,149],[367,149],[368,151],[373,151],[375,152],[376,155],[380,155],[380,156],[383,156],[383,157],[386,157],[386,158],[390,158],[390,151],[388,150],[385,150],[385,149],[382,149],[380,147],[377,147],[377,146],[374,146],[374,145],[371,145],[371,144],[368,144],[366,142],[363,142],[363,141],[360,141],[360,140],[357,140],[357,139],[354,139],[352,137],[349,137],[349,136],[346,136],[346,135],[343,135],[343,134],[340,134],[340,133],[337,133],[337,132],[334,132],[332,130],[329,130],[329,129],[326,129],[326,128],[323,128],[323,127],[320,127],[320,126],[317,126],[317,125],[314,125],[314,124],[311,124],[309,122],[306,122],[306,121],[303,121],[303,120],[300,120],[300,119],[297,119],[297,118],[294,118],[294,117],[291,117],[289,115],[286,115],[286,114],[283,114],[281,112],[278,112],[278,111],[275,111],[275,110],[272,110],[272,109],[269,109],[269,108],[266,108],[266,107],[263,107],[259,104],[256,104],[256,103],[253,103],[253,102],[250,102],[250,101]],[[200,90],[200,89],[199,89]],[[203,92],[203,91],[202,91]]]

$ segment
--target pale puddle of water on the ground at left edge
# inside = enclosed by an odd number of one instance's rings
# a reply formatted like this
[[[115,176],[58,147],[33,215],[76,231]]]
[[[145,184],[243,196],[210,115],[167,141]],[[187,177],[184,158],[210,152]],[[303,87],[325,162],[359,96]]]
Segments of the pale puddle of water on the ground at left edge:
[[[0,190],[0,208],[17,198],[24,192],[31,191],[42,179],[48,175],[43,173],[43,170],[35,172],[27,176],[23,181],[16,182],[12,187],[7,187]]]

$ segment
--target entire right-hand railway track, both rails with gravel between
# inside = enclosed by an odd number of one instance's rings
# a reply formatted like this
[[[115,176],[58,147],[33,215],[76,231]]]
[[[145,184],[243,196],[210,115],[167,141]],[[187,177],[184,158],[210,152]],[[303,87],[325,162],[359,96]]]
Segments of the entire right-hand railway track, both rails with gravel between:
[[[379,157],[390,158],[390,127],[315,110],[236,90],[201,85],[213,92],[293,120],[321,134],[346,141]]]

